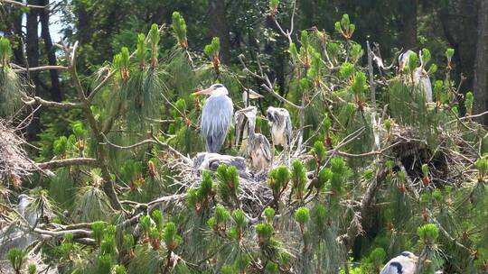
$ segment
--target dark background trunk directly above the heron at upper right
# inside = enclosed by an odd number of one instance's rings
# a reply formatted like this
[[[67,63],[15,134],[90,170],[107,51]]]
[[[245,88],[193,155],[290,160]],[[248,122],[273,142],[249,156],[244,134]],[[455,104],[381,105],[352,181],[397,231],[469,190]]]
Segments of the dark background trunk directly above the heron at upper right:
[[[403,1],[401,15],[401,30],[403,50],[412,50],[418,46],[417,42],[417,11],[418,0]]]

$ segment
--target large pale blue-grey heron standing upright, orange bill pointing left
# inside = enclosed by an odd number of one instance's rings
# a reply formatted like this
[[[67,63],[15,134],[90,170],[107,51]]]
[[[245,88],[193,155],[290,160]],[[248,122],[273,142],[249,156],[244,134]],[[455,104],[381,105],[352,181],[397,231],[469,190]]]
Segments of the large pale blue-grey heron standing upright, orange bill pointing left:
[[[234,113],[234,106],[229,91],[222,84],[213,84],[211,87],[195,92],[193,96],[210,95],[203,105],[202,135],[207,143],[207,151],[219,153],[225,137],[229,131],[230,121]]]

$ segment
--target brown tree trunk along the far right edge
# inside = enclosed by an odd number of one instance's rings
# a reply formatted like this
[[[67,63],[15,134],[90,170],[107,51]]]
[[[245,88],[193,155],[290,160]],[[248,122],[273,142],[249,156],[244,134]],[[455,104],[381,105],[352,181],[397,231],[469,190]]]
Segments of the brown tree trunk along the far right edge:
[[[478,42],[474,64],[474,113],[488,110],[488,1],[481,1],[478,9]],[[488,125],[488,116],[480,122]]]

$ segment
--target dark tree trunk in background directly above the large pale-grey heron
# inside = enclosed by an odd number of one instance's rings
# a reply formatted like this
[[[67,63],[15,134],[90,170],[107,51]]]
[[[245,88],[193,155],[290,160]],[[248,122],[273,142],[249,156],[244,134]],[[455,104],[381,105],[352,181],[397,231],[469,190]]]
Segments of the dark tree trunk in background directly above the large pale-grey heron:
[[[230,64],[230,35],[225,20],[224,0],[209,0],[209,27],[212,36],[221,39],[221,61]]]

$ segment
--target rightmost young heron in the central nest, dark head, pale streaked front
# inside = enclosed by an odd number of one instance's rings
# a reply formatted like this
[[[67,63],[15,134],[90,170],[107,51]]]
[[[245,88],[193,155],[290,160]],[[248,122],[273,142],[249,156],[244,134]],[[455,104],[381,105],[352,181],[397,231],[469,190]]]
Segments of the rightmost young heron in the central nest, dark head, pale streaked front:
[[[273,145],[281,144],[284,148],[288,148],[292,138],[292,125],[288,111],[285,108],[269,106],[267,120],[269,120]]]

